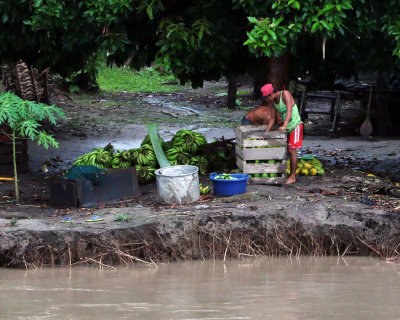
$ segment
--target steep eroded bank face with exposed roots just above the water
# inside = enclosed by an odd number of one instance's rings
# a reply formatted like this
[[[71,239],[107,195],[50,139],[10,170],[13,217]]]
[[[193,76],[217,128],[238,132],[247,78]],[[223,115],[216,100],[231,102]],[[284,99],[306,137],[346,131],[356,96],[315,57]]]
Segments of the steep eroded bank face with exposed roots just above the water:
[[[308,230],[301,225],[268,229],[229,229],[197,225],[175,234],[148,230],[135,234],[130,230],[82,236],[79,233],[52,239],[30,237],[16,243],[18,250],[0,252],[1,265],[20,268],[94,265],[115,269],[118,265],[144,264],[157,268],[169,261],[241,259],[255,256],[348,256],[374,255],[381,258],[398,256],[400,243],[380,243],[353,237],[348,230],[331,233]],[[139,238],[140,237],[140,238]],[[45,240],[46,239],[46,240]],[[112,239],[112,240],[109,240]],[[127,241],[129,239],[129,241]]]

